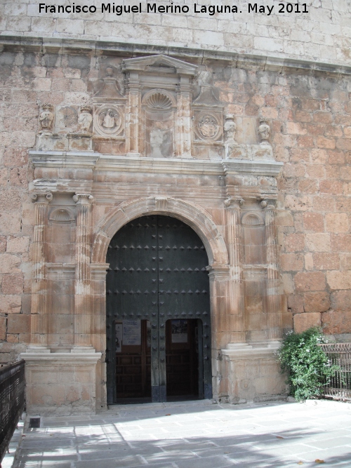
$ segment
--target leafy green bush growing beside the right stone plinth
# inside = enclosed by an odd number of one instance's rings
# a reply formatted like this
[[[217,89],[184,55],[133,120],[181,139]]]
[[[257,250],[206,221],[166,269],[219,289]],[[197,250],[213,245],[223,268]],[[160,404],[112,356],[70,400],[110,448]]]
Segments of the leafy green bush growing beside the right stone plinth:
[[[319,328],[309,328],[303,333],[289,333],[277,352],[282,372],[286,372],[289,394],[304,401],[322,394],[323,385],[329,382],[338,366],[332,366],[320,345],[326,337]]]

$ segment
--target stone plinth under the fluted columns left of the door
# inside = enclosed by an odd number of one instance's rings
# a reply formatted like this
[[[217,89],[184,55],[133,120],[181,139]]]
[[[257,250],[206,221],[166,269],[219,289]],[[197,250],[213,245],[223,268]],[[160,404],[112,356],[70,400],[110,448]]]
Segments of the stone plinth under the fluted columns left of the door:
[[[27,412],[39,415],[95,413],[96,363],[94,349],[50,352],[28,349],[25,359]]]

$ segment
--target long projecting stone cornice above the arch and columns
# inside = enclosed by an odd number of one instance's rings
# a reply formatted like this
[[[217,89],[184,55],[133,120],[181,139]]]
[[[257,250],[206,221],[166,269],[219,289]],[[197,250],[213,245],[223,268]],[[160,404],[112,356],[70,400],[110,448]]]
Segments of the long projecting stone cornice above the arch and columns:
[[[180,158],[145,158],[140,156],[108,156],[93,152],[29,152],[34,168],[91,168],[95,171],[172,173],[194,175],[227,175],[250,173],[277,177],[283,163],[246,159],[201,160]]]

